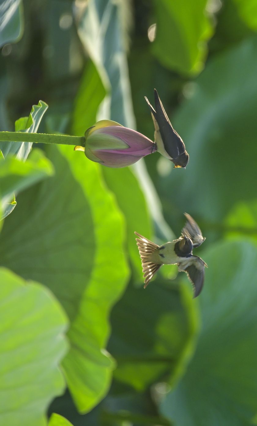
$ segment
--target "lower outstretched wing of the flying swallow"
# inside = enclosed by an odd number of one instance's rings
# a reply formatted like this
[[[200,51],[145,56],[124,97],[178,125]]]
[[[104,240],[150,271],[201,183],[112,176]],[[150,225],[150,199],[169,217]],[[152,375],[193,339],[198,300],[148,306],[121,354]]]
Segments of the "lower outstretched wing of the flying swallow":
[[[179,271],[185,272],[193,285],[193,297],[199,296],[204,284],[205,266],[207,267],[204,260],[198,256],[191,256],[187,260],[179,263],[178,266]]]

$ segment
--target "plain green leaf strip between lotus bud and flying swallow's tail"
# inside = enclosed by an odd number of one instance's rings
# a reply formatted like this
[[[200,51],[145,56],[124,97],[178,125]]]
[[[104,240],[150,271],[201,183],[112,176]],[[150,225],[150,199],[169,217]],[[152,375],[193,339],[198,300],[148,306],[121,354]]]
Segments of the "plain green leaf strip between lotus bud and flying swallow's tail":
[[[136,177],[128,167],[123,169],[102,167],[102,173],[108,188],[115,194],[118,205],[126,218],[127,247],[134,273],[133,278],[136,282],[142,284],[141,259],[134,231],[147,238],[150,238],[153,232],[144,195]]]

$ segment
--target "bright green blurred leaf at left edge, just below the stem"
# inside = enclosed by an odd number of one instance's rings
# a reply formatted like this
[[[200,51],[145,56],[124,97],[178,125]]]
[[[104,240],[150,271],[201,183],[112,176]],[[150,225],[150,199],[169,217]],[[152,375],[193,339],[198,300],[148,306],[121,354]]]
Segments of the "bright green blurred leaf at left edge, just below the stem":
[[[37,148],[24,163],[13,155],[0,159],[0,194],[10,199],[12,194],[24,190],[46,176],[53,174],[53,167],[43,152]]]

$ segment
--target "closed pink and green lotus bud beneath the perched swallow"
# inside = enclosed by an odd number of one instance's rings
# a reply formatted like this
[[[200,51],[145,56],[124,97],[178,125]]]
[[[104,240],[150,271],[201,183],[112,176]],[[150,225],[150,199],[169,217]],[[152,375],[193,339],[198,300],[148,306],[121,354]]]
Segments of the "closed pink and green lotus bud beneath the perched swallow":
[[[101,120],[85,133],[85,155],[107,167],[126,167],[145,155],[154,153],[156,145],[136,130],[121,126],[116,121]]]

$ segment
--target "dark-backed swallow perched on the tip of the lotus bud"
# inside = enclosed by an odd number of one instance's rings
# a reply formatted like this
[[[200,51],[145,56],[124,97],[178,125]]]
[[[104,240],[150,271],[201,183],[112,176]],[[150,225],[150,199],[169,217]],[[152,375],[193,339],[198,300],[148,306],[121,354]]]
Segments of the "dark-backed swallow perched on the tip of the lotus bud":
[[[172,161],[175,167],[186,167],[189,155],[185,150],[185,144],[170,124],[157,90],[154,89],[155,109],[153,109],[146,96],[144,98],[149,105],[153,118],[155,128],[154,141],[157,151]]]

